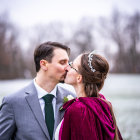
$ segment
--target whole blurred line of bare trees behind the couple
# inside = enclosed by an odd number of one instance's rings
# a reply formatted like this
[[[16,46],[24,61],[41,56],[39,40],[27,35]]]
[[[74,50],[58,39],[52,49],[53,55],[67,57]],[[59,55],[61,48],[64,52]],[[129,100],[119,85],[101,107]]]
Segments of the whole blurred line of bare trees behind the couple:
[[[27,31],[27,30],[26,30]],[[22,35],[21,35],[22,34]],[[28,49],[24,48],[24,37]],[[33,51],[45,41],[58,41],[71,48],[71,59],[90,50],[103,50],[113,73],[140,73],[140,13],[113,12],[109,18],[85,17],[77,24],[52,22],[21,32],[0,15],[0,79],[31,78],[35,75]]]

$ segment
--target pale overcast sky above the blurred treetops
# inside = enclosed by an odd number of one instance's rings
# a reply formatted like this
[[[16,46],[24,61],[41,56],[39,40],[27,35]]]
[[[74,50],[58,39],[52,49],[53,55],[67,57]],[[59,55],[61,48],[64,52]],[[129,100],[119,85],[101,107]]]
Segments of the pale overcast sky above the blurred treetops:
[[[51,21],[75,23],[84,16],[109,16],[113,8],[132,14],[140,11],[140,0],[0,0],[0,13],[7,11],[21,27]]]

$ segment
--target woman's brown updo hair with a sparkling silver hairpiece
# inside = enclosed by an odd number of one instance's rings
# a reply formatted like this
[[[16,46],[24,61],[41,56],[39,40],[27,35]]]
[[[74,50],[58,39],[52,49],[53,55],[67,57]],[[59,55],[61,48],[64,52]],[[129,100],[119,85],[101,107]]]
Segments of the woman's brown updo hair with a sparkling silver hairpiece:
[[[102,89],[109,71],[109,64],[101,55],[92,54],[89,58],[90,54],[82,54],[79,72],[83,78],[87,97],[98,97],[98,92]]]

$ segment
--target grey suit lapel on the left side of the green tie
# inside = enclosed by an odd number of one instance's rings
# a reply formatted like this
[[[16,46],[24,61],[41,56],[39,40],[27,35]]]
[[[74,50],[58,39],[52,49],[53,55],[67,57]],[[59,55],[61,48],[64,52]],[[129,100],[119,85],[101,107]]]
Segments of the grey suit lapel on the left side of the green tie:
[[[28,95],[25,98],[27,100],[28,105],[31,108],[32,113],[34,114],[37,122],[39,123],[39,125],[40,125],[42,131],[44,132],[44,134],[46,135],[46,137],[48,139],[50,139],[48,129],[46,127],[46,123],[45,123],[45,120],[43,118],[41,107],[40,107],[40,104],[39,104],[39,101],[38,101],[37,92],[36,92],[36,89],[35,89],[33,83],[28,88],[28,90],[26,90],[26,93]]]

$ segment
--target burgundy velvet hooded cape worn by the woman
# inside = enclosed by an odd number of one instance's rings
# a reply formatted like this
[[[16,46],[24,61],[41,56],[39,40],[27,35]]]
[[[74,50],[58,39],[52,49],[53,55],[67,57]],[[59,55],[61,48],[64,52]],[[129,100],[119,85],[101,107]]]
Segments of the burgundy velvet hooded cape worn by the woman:
[[[100,95],[104,99],[103,95]],[[100,98],[80,97],[64,104],[59,140],[113,140],[115,126],[109,105]],[[122,139],[120,135],[120,139]]]

